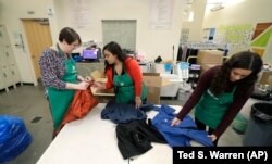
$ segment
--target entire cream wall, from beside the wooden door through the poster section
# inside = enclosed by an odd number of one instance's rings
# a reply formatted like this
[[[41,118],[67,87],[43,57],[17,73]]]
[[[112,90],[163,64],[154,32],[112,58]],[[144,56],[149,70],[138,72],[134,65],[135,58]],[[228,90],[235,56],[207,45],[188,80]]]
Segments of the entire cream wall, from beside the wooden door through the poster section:
[[[28,45],[21,18],[49,18],[53,43],[58,42],[59,30],[71,26],[71,2],[73,0],[0,0],[0,21],[7,25],[15,59],[23,83],[37,84]],[[82,0],[84,1],[84,0]],[[91,24],[86,29],[76,29],[82,39],[102,41],[101,20],[137,20],[136,49],[145,52],[148,60],[161,55],[163,60],[172,59],[172,47],[177,51],[182,28],[184,0],[174,0],[172,25],[169,30],[151,30],[150,0],[86,0],[90,10]],[[46,13],[47,7],[53,7],[54,15]],[[35,14],[27,14],[27,11]],[[14,47],[13,34],[23,34],[26,50]]]

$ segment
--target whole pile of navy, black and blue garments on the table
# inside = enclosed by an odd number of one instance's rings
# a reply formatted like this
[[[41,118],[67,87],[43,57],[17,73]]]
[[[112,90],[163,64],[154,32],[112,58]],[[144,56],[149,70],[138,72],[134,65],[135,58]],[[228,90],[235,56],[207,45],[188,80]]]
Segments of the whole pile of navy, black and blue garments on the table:
[[[146,112],[159,113],[153,119],[147,118]],[[102,119],[111,119],[116,126],[118,147],[124,159],[140,155],[149,151],[151,142],[168,143],[170,147],[190,147],[190,140],[212,147],[206,131],[197,130],[195,122],[186,116],[182,124],[171,126],[175,117],[174,109],[169,105],[154,106],[144,104],[139,110],[135,104],[109,102],[101,112]]]

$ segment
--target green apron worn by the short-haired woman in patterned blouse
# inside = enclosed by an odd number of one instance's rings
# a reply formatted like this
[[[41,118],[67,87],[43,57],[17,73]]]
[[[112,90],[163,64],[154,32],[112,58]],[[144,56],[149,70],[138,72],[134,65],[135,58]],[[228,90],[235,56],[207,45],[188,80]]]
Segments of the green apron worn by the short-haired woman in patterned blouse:
[[[58,45],[57,48],[59,54],[64,55]],[[63,75],[61,80],[65,83],[76,84],[77,72],[75,68],[74,60],[72,58],[66,59],[64,61],[64,64],[65,64],[65,74]],[[54,129],[58,129],[70,106],[70,103],[74,98],[75,90],[70,90],[70,89],[59,90],[52,87],[48,87],[47,90],[54,123]]]

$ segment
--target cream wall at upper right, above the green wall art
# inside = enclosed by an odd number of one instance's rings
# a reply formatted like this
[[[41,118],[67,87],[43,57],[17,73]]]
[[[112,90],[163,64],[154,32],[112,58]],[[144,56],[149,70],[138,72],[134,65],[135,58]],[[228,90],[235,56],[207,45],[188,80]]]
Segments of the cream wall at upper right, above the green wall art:
[[[236,5],[225,7],[223,10],[208,11],[205,15],[203,28],[240,24],[251,24],[256,27],[257,23],[272,22],[271,7],[271,0],[244,0]],[[270,41],[270,47],[271,43]],[[272,64],[271,48],[264,52],[263,61]]]

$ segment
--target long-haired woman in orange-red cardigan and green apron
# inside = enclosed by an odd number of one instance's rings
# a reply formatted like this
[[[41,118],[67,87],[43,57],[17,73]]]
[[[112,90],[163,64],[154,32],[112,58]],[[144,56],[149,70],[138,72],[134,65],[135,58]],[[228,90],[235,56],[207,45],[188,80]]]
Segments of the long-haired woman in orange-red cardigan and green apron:
[[[109,42],[103,47],[106,59],[104,73],[107,83],[95,83],[98,89],[114,87],[118,103],[134,103],[136,108],[146,99],[147,89],[143,84],[141,73],[136,60],[123,53],[116,42]]]

